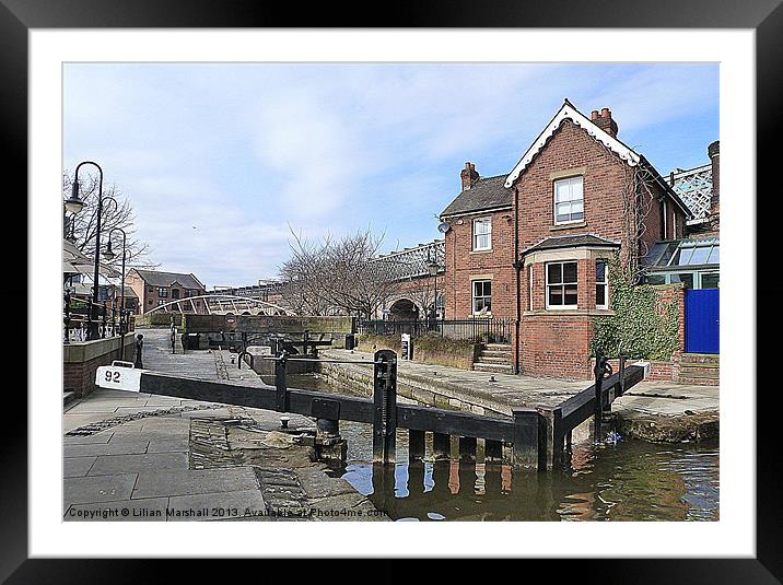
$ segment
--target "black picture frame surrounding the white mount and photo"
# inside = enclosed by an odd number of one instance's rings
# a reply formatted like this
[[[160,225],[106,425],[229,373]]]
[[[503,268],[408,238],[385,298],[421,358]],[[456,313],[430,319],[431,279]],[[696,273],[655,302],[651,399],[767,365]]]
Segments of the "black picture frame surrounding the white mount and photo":
[[[378,10],[383,8],[383,10]],[[757,188],[780,194],[773,173],[780,167],[781,116],[778,104],[783,87],[783,7],[781,0],[548,0],[547,2],[493,1],[448,2],[397,1],[389,4],[297,3],[264,0],[0,0],[0,116],[3,127],[4,197],[27,192],[27,33],[31,28],[103,27],[613,27],[613,28],[752,28],[756,31],[757,84]],[[618,56],[619,57],[619,56]],[[748,116],[748,113],[737,113]],[[14,185],[15,183],[15,185]],[[13,187],[12,187],[13,185]],[[755,194],[745,195],[748,200]],[[780,195],[778,195],[780,197]],[[26,217],[24,209],[20,210]],[[763,221],[759,217],[758,220]],[[769,218],[767,221],[772,221]],[[758,225],[757,233],[763,233]],[[774,233],[774,230],[772,230]],[[748,234],[749,238],[752,238]],[[750,242],[752,244],[752,242]],[[759,254],[763,250],[758,248]],[[759,266],[757,264],[757,266]],[[759,293],[758,305],[764,295]],[[32,309],[33,307],[28,307]],[[26,324],[20,324],[26,331]],[[24,338],[24,336],[22,336]],[[752,340],[748,340],[749,344]],[[749,346],[752,347],[752,346]],[[773,349],[776,352],[776,348]],[[46,360],[31,354],[28,360]],[[56,358],[48,358],[56,359]],[[756,360],[756,355],[748,356]],[[744,364],[726,364],[743,367]],[[19,368],[19,367],[17,367]],[[19,368],[21,370],[21,368]],[[748,377],[745,388],[732,391],[752,396],[757,381]],[[783,485],[783,457],[776,448],[778,424],[774,398],[779,384],[758,384],[757,405],[757,555],[755,559],[689,560],[537,560],[538,565],[559,577],[574,575],[580,582],[595,583],[781,583],[783,581],[783,506],[779,495]],[[0,582],[27,583],[136,583],[157,581],[161,562],[143,565],[132,560],[32,560],[27,553],[27,425],[26,396],[3,393],[7,412],[4,437],[0,442]],[[317,549],[305,549],[317,554]],[[379,553],[389,549],[379,550]],[[89,551],[85,551],[89,554]],[[607,555],[611,554],[608,543]],[[350,555],[350,550],[347,550]],[[386,575],[390,561],[378,561],[375,575]],[[203,571],[202,563],[177,568],[177,581],[188,573]],[[464,564],[464,563],[463,563]],[[481,563],[476,563],[480,565]],[[323,565],[319,565],[323,571]],[[478,568],[478,566],[477,566]],[[257,566],[232,563],[231,578],[242,578]],[[463,570],[459,568],[458,570]],[[270,569],[271,571],[271,569]],[[487,565],[479,571],[491,576]],[[533,573],[530,573],[531,575]],[[575,575],[579,575],[576,577]],[[521,575],[522,577],[522,575]],[[297,578],[299,580],[299,578]],[[373,578],[373,581],[378,581]]]

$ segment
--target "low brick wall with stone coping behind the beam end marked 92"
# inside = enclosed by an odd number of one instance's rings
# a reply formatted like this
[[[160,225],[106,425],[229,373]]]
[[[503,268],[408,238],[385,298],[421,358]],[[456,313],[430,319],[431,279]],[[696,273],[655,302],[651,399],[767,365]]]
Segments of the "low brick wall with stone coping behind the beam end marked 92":
[[[119,354],[119,337],[62,346],[63,390],[73,391],[79,398],[85,397],[97,388],[95,371],[98,366],[110,365],[114,360],[120,359],[133,361],[135,341],[132,335],[125,336],[125,351],[121,356]]]

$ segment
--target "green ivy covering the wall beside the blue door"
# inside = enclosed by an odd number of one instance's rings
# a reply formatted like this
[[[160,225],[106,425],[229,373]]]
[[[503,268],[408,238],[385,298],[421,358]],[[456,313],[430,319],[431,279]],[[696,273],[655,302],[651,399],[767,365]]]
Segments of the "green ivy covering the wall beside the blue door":
[[[633,359],[670,360],[678,344],[678,302],[665,307],[650,284],[632,284],[616,254],[608,260],[612,315],[593,319],[591,351],[616,356],[620,351]]]

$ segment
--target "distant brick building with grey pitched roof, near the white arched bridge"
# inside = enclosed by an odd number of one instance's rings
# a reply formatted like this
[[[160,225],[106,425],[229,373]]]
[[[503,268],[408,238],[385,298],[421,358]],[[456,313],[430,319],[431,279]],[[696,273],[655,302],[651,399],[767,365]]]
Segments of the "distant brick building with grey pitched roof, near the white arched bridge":
[[[194,274],[131,268],[125,282],[139,297],[140,313],[148,313],[172,301],[176,303],[168,311],[207,312],[203,300],[190,299],[206,293],[204,285]]]

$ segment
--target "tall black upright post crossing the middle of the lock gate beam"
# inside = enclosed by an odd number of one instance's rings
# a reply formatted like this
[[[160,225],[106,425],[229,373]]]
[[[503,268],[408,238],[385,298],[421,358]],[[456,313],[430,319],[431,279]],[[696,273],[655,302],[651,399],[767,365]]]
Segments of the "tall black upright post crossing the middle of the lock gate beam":
[[[373,461],[395,463],[397,447],[397,354],[375,352],[373,367]]]

